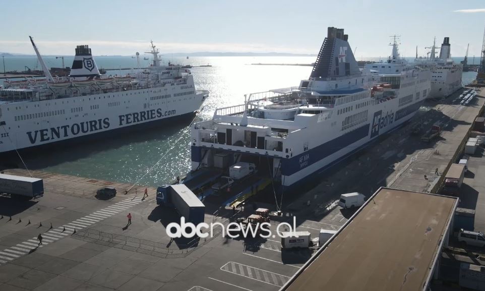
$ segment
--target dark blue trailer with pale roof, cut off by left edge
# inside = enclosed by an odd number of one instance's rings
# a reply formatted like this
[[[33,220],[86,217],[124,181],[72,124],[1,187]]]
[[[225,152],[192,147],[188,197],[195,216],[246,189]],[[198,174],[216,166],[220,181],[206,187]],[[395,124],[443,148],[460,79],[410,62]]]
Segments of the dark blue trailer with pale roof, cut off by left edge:
[[[30,200],[44,195],[42,179],[0,174],[0,194]]]

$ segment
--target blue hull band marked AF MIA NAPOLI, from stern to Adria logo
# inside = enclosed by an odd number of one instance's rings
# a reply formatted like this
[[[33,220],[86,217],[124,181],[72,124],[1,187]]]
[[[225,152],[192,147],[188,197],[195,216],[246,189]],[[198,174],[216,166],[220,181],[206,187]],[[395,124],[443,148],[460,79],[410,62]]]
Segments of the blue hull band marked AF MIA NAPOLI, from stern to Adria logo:
[[[291,176],[297,171],[366,138],[369,135],[369,127],[370,124],[366,124],[292,158],[283,159],[281,163],[281,174]]]

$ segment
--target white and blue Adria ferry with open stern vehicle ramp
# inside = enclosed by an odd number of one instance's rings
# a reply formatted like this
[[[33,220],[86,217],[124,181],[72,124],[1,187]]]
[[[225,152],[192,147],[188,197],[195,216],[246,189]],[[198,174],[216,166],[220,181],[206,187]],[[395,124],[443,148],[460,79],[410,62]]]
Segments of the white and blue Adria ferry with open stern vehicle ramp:
[[[404,64],[396,42],[387,63],[358,68],[347,38],[329,27],[310,78],[297,88],[245,96],[195,123],[192,170],[224,174],[249,162],[289,189],[411,119],[430,92],[430,70]]]

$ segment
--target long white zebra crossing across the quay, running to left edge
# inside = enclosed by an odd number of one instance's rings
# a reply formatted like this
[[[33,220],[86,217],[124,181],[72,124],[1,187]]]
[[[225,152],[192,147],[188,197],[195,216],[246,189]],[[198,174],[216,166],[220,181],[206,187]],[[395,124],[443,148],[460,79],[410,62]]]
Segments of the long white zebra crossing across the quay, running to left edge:
[[[42,234],[42,245],[39,245],[39,240],[37,237],[29,239],[25,242],[17,244],[15,247],[10,247],[4,251],[0,251],[0,264],[6,264],[16,258],[24,256],[30,253],[32,250],[37,248],[42,248],[43,245],[48,245],[49,243],[54,243],[59,239],[67,237],[74,233],[77,229],[85,228],[89,225],[102,221],[106,218],[111,217],[114,214],[125,211],[126,209],[136,206],[143,200],[139,197],[128,198],[123,201],[119,201],[113,205],[105,207],[103,209],[97,210],[91,214],[88,214],[82,218],[78,218],[71,222],[68,222],[62,226],[54,229],[49,229]],[[52,225],[51,225],[52,226]],[[199,286],[197,286],[199,287]],[[194,289],[197,291],[211,291],[206,288],[199,287],[200,289]],[[192,290],[192,289],[191,289]]]

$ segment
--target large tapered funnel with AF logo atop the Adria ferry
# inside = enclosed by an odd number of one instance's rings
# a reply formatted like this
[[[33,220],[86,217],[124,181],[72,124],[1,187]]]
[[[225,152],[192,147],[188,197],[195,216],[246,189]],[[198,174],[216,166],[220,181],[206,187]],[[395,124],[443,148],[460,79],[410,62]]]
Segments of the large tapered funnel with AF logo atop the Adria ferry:
[[[359,74],[348,35],[342,28],[329,27],[310,78],[343,77]]]

